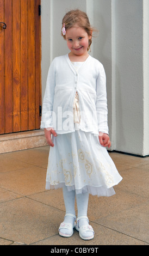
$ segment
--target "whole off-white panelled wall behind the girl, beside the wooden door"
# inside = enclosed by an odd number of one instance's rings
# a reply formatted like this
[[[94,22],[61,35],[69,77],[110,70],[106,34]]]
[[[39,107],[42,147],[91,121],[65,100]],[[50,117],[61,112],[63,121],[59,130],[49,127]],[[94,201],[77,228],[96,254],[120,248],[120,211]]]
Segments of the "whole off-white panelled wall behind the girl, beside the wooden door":
[[[79,8],[89,16],[99,35],[91,56],[107,75],[108,125],[111,150],[149,155],[148,121],[148,0],[41,0],[42,97],[49,65],[66,54],[61,20]]]

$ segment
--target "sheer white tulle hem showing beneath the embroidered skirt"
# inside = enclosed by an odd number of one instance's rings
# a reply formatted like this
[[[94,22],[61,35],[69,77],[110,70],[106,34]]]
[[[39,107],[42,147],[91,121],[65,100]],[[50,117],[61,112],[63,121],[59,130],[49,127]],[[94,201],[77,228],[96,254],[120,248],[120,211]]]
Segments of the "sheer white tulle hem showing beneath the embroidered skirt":
[[[59,183],[57,185],[51,185],[50,182],[46,182],[46,190],[57,190],[58,188],[61,188],[65,185],[65,183]],[[85,192],[89,192],[89,194],[92,194],[92,196],[98,196],[98,197],[111,197],[115,194],[114,188],[105,188],[104,186],[100,187],[93,187],[93,186],[84,186],[80,189],[75,188],[75,186],[67,186],[68,191],[75,190],[76,194],[82,194]]]

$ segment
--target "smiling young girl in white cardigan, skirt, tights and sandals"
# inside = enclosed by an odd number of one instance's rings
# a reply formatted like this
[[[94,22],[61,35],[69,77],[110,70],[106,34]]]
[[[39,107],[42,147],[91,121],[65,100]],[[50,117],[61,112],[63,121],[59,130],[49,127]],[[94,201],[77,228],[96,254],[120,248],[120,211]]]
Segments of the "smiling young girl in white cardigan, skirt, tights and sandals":
[[[105,72],[88,53],[93,31],[88,16],[72,10],[62,23],[70,52],[53,60],[42,106],[41,129],[51,146],[46,189],[63,187],[66,215],[59,234],[70,237],[75,227],[82,239],[89,240],[94,238],[87,217],[89,193],[112,196],[122,177],[105,148],[111,144]]]

